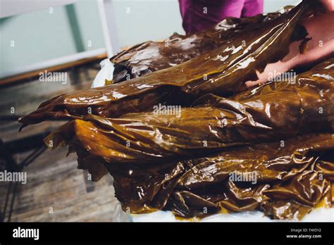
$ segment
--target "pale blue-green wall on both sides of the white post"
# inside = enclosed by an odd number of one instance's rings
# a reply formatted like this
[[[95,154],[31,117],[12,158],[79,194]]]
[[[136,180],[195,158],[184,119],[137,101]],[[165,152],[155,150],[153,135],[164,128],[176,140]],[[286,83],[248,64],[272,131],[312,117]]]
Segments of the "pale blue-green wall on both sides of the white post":
[[[32,0],[11,0],[11,3],[16,6],[21,1]],[[173,32],[183,33],[177,0],[113,0],[113,8],[116,18],[113,33],[121,47],[149,39],[164,39]],[[55,6],[52,13],[45,6],[37,11],[0,18],[0,74],[75,54],[80,51],[78,43],[81,51],[103,48],[97,2],[78,0],[73,10],[78,20],[74,32],[68,18],[68,6]]]

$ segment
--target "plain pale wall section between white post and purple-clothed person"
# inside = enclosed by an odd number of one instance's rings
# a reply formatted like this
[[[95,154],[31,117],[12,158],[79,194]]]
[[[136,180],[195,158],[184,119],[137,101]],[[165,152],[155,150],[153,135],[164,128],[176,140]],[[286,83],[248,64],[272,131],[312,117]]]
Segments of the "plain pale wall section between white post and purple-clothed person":
[[[120,46],[184,34],[177,0],[113,0],[113,6]]]

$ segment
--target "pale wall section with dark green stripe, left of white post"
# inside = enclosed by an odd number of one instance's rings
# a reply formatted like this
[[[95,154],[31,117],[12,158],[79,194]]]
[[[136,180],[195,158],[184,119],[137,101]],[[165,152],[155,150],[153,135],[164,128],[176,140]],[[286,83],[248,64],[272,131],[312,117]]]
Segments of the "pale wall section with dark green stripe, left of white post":
[[[13,4],[20,4],[20,1],[14,0]],[[70,25],[68,6],[1,18],[0,73],[78,51],[103,48],[96,2],[79,1],[72,7],[78,20],[76,27]],[[78,46],[78,43],[81,45]],[[90,43],[92,45],[88,45]]]

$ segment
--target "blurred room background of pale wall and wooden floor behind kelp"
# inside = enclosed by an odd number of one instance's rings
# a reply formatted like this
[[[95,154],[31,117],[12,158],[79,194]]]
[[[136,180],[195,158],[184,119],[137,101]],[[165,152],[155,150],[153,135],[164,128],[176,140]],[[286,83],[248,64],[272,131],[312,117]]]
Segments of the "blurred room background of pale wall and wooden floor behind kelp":
[[[99,62],[147,40],[184,34],[177,0],[1,0],[0,171],[27,173],[27,184],[0,182],[0,221],[111,221],[112,178],[89,180],[67,149],[42,139],[63,122],[18,132],[17,119],[58,94],[91,87]],[[264,13],[296,0],[264,0]],[[44,70],[67,82],[40,82]]]

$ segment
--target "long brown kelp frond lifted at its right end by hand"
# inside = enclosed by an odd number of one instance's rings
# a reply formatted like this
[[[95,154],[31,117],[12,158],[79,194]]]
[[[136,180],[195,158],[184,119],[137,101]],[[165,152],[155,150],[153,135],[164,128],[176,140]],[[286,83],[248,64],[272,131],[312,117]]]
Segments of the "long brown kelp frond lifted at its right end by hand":
[[[151,111],[159,103],[190,106],[204,94],[242,92],[247,89],[245,81],[256,77],[256,70],[283,58],[293,40],[304,39],[307,32],[298,21],[308,10],[308,3],[259,23],[256,30],[242,32],[190,61],[106,87],[56,96],[19,121],[28,125],[50,118],[81,118],[88,113],[115,118]]]

